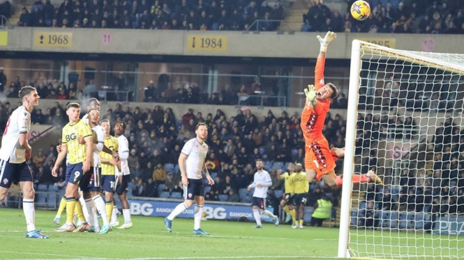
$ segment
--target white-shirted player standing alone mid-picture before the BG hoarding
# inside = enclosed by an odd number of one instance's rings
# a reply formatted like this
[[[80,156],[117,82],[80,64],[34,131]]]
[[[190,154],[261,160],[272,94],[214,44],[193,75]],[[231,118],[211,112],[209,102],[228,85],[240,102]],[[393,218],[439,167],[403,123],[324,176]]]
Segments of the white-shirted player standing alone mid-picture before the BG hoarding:
[[[204,123],[197,124],[195,127],[196,138],[188,140],[184,145],[179,156],[179,168],[182,174],[182,184],[184,184],[184,202],[177,205],[174,211],[165,218],[165,227],[167,231],[172,231],[172,220],[180,213],[193,205],[195,200],[195,215],[193,234],[209,235],[200,228],[202,221],[203,205],[204,205],[204,185],[202,180],[202,170],[209,185],[214,185],[214,180],[209,176],[209,172],[204,165],[204,160],[208,154],[208,145],[204,143],[208,136],[208,127]]]

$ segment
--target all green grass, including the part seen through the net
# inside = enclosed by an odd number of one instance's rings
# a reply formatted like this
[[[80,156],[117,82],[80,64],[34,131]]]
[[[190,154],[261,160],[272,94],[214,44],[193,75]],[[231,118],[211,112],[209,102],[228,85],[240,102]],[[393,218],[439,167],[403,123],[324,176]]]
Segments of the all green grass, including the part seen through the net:
[[[264,224],[252,229],[251,222],[207,220],[202,229],[211,236],[193,236],[193,219],[174,220],[168,233],[163,218],[133,216],[132,229],[100,235],[54,233],[53,218],[54,211],[36,211],[36,227],[50,239],[28,239],[22,210],[0,209],[0,259],[336,259],[338,250],[336,228]],[[464,255],[463,237],[364,229],[350,234],[350,246],[361,257]]]

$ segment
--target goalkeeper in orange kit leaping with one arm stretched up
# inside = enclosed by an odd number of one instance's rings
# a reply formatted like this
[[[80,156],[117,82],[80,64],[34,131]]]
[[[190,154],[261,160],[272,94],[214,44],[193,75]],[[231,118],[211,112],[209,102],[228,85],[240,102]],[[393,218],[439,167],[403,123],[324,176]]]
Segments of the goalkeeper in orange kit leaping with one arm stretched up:
[[[305,168],[309,182],[324,179],[331,187],[341,186],[343,179],[334,172],[335,160],[343,156],[343,149],[329,149],[329,142],[322,136],[325,116],[329,112],[330,101],[337,96],[338,90],[332,83],[324,83],[324,64],[327,46],[336,38],[334,32],[327,32],[324,38],[317,35],[320,52],[315,67],[315,84],[304,90],[306,104],[301,113],[301,131],[305,140]],[[353,174],[353,183],[373,182],[382,184],[382,180],[373,171],[367,174]]]

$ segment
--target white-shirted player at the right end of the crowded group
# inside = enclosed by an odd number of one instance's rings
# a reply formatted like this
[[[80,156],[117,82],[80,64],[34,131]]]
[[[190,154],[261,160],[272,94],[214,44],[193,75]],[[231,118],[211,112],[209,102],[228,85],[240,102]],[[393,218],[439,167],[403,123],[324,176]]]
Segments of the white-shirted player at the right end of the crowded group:
[[[121,200],[122,204],[122,214],[124,216],[124,224],[121,225],[120,227],[117,227],[118,229],[130,229],[132,227],[132,220],[130,220],[130,209],[129,209],[129,202],[127,200],[127,189],[128,189],[128,184],[130,181],[130,170],[129,170],[129,164],[127,159],[129,158],[129,142],[124,136],[124,132],[126,131],[126,124],[124,122],[115,122],[113,126],[113,131],[114,131],[114,137],[118,139],[119,143],[119,158],[121,159],[121,172],[117,172],[117,188],[115,192],[117,193],[119,200]],[[112,221],[117,220],[117,215],[114,213],[113,208],[113,216],[112,216]]]

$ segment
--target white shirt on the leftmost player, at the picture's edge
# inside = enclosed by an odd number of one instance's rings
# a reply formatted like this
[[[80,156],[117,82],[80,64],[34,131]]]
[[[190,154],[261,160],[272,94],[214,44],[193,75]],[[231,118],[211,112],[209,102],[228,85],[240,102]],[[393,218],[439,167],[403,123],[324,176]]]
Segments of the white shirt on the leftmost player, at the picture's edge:
[[[0,159],[10,163],[24,163],[26,150],[20,145],[20,133],[31,130],[31,114],[25,106],[20,106],[11,113],[1,139]]]

